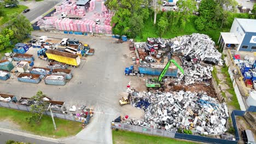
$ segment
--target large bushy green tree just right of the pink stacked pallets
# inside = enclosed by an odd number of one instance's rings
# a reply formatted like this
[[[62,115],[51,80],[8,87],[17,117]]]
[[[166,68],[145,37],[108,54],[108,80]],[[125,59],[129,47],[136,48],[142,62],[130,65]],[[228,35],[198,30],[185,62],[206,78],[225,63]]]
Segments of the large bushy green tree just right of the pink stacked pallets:
[[[108,0],[105,4],[110,10],[115,11],[115,15],[112,17],[112,24],[115,24],[115,28],[130,37],[141,33],[143,20],[149,17],[147,2],[143,0]],[[145,7],[143,8],[141,5]]]

